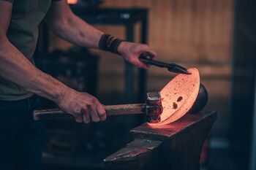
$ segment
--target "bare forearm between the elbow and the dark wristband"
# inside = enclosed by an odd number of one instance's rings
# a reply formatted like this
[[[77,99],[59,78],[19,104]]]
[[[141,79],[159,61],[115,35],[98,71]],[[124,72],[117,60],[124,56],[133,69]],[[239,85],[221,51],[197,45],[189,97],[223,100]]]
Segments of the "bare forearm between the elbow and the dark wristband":
[[[48,23],[48,26],[55,34],[81,47],[98,48],[100,36],[103,34],[74,14],[65,20]]]

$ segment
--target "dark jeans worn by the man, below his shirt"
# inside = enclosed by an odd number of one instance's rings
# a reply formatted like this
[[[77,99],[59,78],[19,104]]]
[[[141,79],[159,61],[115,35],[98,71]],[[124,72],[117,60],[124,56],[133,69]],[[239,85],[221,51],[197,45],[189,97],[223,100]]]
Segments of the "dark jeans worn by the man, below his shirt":
[[[0,169],[41,170],[43,125],[34,121],[39,97],[0,101]]]

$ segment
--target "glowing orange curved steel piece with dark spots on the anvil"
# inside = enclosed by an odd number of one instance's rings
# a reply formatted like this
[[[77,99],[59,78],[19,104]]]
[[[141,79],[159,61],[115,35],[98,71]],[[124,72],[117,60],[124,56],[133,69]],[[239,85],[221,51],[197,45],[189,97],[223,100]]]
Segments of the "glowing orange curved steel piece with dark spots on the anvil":
[[[163,107],[161,122],[149,125],[172,123],[184,116],[195,103],[200,87],[200,76],[197,69],[188,71],[192,74],[178,74],[160,91]]]

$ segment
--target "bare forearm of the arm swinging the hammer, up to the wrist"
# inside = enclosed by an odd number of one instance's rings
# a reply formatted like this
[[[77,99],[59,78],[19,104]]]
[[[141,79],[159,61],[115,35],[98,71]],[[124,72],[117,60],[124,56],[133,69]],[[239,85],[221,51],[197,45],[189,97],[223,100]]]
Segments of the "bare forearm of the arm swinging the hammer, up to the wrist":
[[[37,69],[8,39],[0,40],[0,77],[57,102],[67,86]]]

